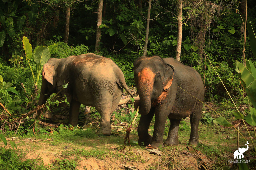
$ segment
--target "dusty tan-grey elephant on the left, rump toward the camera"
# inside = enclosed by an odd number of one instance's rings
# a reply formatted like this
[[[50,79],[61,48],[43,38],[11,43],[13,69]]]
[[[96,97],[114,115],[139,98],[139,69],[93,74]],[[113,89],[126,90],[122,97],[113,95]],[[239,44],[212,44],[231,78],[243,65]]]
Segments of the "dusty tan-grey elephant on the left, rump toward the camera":
[[[93,53],[49,59],[43,66],[42,79],[38,105],[45,104],[49,95],[58,93],[68,83],[59,96],[66,95],[70,103],[69,124],[78,124],[81,104],[93,106],[100,113],[103,134],[111,133],[110,115],[118,106],[123,89],[132,96],[123,72],[114,61]],[[61,101],[61,98],[57,100]],[[65,103],[61,104],[61,107],[65,106]]]

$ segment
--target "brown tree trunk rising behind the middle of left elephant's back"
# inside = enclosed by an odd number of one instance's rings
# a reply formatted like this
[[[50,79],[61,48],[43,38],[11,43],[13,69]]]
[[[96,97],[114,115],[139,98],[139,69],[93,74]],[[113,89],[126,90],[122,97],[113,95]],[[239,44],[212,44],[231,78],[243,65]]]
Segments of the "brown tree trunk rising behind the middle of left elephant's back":
[[[103,0],[99,0],[99,7],[98,7],[98,21],[97,21],[97,28],[96,28],[96,43],[95,43],[95,51],[99,52],[99,43],[100,43],[100,36],[101,36],[101,25],[102,20],[102,8],[103,8]]]

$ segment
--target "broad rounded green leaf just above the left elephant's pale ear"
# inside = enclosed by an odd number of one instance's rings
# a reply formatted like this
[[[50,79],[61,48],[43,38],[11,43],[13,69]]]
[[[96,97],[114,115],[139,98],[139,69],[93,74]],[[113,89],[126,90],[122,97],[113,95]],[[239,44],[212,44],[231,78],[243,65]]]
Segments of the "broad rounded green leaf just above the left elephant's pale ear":
[[[37,46],[34,51],[34,61],[44,65],[50,59],[50,50],[47,46]]]

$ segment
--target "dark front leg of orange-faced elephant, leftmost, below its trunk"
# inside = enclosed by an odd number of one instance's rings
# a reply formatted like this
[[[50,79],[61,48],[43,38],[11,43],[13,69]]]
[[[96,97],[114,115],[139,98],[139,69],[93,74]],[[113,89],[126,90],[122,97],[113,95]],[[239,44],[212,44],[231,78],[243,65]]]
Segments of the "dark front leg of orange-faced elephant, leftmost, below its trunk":
[[[147,115],[141,115],[140,122],[138,126],[139,140],[138,144],[143,146],[148,146],[151,142],[152,136],[148,133],[148,128],[155,114],[155,109],[152,108]]]

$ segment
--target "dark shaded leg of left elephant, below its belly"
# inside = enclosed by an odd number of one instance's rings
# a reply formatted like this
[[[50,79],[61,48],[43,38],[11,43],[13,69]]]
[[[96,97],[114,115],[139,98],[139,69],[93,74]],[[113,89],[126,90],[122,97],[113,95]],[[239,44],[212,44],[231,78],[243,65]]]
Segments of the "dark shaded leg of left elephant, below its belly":
[[[78,114],[81,103],[78,101],[71,101],[69,109],[69,124],[73,127],[78,124]]]

